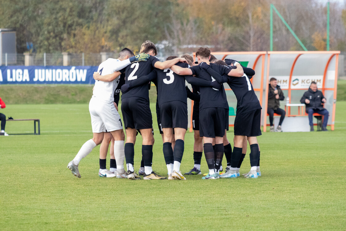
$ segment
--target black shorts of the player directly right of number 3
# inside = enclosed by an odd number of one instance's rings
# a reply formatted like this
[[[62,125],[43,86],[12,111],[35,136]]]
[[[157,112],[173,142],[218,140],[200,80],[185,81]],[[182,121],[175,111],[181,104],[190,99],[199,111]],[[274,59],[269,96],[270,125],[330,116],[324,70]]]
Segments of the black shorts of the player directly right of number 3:
[[[199,135],[202,137],[225,135],[225,108],[204,108],[199,110]]]

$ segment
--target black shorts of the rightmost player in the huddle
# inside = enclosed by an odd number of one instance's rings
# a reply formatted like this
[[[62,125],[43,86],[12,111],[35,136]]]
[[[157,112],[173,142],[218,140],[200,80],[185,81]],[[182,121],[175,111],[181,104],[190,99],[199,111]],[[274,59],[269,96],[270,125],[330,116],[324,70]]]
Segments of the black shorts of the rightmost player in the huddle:
[[[260,136],[261,132],[261,110],[257,109],[242,114],[236,114],[234,120],[235,136]]]

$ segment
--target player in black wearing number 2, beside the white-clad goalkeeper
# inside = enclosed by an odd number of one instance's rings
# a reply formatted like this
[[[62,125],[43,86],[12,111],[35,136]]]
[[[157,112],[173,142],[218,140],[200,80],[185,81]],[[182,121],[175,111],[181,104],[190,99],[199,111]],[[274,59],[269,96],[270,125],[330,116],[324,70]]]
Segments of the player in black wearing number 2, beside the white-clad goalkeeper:
[[[175,58],[160,62],[160,60],[154,56],[157,54],[157,49],[154,44],[147,44],[143,52],[150,55],[150,58],[146,62],[133,63],[120,70],[118,73],[120,75],[125,72],[125,84],[130,84],[131,81],[148,75],[154,68],[164,70],[179,61],[186,62],[183,58]],[[136,130],[139,130],[143,137],[142,156],[145,172],[143,179],[166,179],[166,177],[158,175],[152,169],[153,120],[149,107],[149,84],[130,88],[127,92],[123,93],[121,96],[121,112],[126,130],[125,159],[128,168],[127,177],[129,179],[134,179],[135,177],[133,168],[135,155],[134,143],[136,140]]]

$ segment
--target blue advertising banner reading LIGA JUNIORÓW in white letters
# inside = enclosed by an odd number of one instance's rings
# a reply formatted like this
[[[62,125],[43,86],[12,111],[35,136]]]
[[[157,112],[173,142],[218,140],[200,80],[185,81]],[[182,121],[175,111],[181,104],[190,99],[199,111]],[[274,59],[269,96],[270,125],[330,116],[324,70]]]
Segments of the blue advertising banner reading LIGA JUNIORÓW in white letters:
[[[93,66],[1,66],[0,84],[94,84]]]

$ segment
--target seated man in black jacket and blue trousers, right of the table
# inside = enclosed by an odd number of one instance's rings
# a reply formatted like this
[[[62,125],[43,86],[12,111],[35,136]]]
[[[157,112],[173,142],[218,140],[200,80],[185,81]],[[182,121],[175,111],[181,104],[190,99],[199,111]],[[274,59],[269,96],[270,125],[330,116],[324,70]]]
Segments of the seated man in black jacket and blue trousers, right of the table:
[[[309,114],[310,131],[313,131],[313,122],[312,122],[313,113],[324,115],[322,131],[328,131],[326,127],[327,127],[329,112],[327,111],[327,109],[323,108],[323,105],[322,105],[322,103],[325,103],[326,101],[327,100],[323,96],[322,92],[317,90],[316,82],[311,82],[309,90],[305,92],[303,97],[300,99],[301,103],[305,103],[306,113]]]

